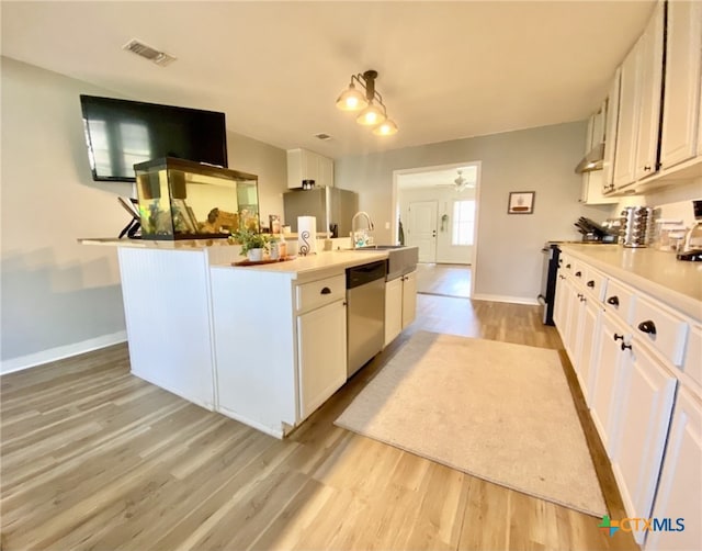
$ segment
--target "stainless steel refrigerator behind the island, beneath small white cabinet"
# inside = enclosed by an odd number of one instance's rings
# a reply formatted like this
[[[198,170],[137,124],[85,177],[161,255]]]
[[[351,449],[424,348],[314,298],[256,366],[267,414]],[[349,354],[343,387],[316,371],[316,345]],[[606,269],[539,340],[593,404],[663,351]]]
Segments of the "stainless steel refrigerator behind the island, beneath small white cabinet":
[[[297,232],[297,216],[315,216],[317,232],[332,232],[338,237],[348,237],[351,218],[359,210],[359,194],[339,188],[292,190],[283,193],[283,207],[284,222],[293,232]]]

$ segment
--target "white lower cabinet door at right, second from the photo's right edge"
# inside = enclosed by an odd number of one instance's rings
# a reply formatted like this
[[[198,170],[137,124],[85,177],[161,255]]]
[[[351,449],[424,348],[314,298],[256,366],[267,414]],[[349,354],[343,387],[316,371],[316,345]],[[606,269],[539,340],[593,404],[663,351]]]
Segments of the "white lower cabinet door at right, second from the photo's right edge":
[[[612,470],[619,482],[626,514],[649,518],[668,435],[677,379],[634,338],[631,373],[618,393],[621,401],[621,431]],[[635,531],[638,543],[643,531]]]

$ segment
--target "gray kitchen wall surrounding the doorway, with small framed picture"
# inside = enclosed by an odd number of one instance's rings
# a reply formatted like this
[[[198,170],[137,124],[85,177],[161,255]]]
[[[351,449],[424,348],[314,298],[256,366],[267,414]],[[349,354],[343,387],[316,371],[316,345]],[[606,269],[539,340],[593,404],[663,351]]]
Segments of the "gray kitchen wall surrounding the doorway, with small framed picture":
[[[579,239],[579,216],[604,220],[611,205],[578,202],[581,179],[574,168],[585,149],[586,123],[524,131],[349,157],[337,161],[336,184],[360,193],[360,209],[376,223],[376,240],[389,243],[393,171],[454,162],[480,161],[476,299],[534,303],[543,256],[550,239]],[[535,191],[534,214],[508,215],[510,191]]]

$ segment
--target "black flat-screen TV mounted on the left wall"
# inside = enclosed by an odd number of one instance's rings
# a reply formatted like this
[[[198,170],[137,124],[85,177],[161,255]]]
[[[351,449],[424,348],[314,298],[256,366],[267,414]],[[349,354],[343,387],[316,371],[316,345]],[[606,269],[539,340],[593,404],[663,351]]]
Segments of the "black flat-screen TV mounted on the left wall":
[[[134,165],[160,157],[227,168],[224,113],[80,97],[92,179],[135,181]]]

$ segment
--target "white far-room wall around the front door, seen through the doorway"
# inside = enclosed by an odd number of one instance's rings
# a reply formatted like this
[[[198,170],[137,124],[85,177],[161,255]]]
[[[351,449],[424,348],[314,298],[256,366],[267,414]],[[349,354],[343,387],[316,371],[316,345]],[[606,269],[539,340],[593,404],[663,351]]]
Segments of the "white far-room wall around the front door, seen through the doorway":
[[[475,189],[465,189],[461,192],[452,187],[423,188],[397,191],[405,235],[407,236],[407,223],[409,221],[409,205],[414,201],[437,201],[437,262],[469,265],[473,258],[473,247],[454,246],[451,244],[453,227],[453,202],[458,200],[475,199]],[[449,223],[441,230],[441,216],[449,215]]]

